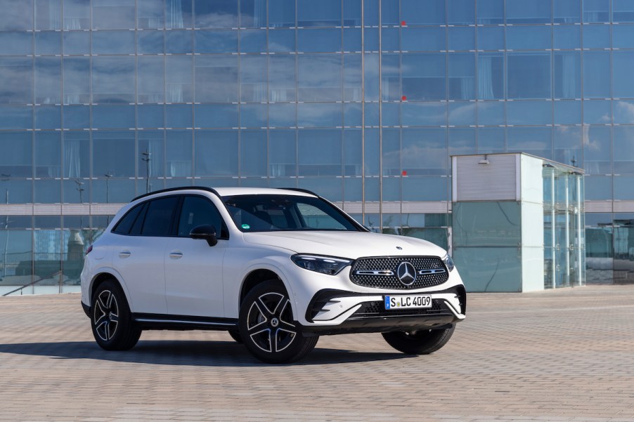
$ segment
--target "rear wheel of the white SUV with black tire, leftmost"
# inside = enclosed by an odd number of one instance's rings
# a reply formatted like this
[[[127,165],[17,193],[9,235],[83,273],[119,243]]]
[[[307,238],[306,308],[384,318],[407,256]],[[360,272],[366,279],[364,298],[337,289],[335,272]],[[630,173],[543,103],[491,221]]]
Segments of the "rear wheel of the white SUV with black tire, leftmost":
[[[129,350],[141,337],[132,321],[126,296],[113,279],[99,284],[91,302],[91,327],[98,345],[105,350]]]

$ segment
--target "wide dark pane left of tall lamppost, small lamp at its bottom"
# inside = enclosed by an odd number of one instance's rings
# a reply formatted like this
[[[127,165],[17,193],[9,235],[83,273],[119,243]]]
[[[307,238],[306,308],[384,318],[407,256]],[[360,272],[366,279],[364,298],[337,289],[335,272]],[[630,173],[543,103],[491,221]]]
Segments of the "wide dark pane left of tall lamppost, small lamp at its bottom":
[[[99,131],[93,133],[93,177],[112,174],[134,177],[134,133]]]

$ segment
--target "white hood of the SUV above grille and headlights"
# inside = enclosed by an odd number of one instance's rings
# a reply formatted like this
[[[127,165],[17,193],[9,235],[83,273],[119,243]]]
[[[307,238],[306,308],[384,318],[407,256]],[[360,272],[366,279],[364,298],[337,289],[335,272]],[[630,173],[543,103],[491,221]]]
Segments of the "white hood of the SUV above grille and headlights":
[[[245,233],[245,242],[277,246],[295,253],[361,258],[362,256],[440,256],[446,251],[415,237],[372,232],[257,232]]]

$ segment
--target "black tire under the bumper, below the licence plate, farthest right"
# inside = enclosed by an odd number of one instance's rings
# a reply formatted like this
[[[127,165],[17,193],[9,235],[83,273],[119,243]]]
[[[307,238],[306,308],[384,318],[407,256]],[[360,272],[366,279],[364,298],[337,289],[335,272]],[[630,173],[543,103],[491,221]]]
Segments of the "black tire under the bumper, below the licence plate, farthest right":
[[[408,355],[429,355],[447,344],[455,324],[446,329],[382,333],[387,344]]]

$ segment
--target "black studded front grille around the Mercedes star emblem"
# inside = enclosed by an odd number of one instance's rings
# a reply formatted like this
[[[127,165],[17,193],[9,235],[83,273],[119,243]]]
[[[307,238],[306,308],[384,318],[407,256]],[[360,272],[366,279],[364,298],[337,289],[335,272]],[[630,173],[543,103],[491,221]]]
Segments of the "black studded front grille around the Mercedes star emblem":
[[[407,285],[397,276],[397,269],[403,262],[411,263],[416,270],[416,279]],[[440,270],[434,272],[430,270]],[[420,271],[426,272],[420,274]],[[358,272],[361,272],[358,273]],[[436,256],[389,256],[359,258],[352,265],[350,279],[354,284],[375,289],[421,289],[438,286],[449,278],[443,261]]]

